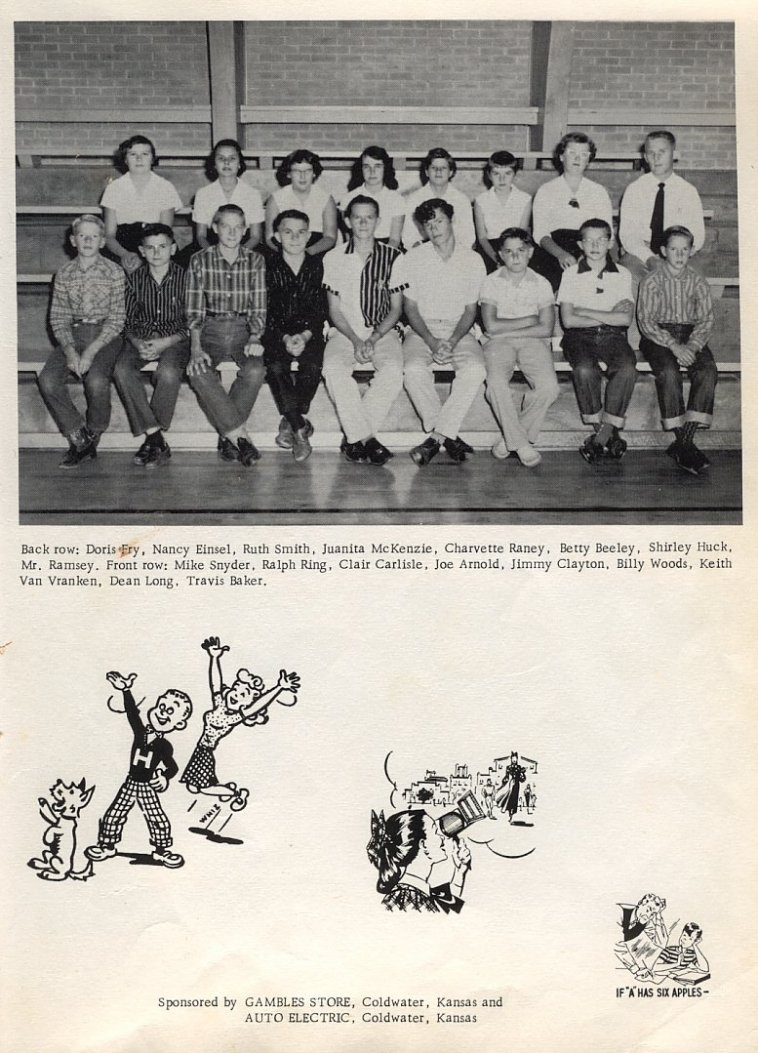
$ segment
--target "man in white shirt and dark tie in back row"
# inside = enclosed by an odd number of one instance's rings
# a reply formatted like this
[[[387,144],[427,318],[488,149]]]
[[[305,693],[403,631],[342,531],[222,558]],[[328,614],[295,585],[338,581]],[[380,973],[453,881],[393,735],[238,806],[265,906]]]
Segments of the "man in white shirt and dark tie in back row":
[[[637,281],[661,263],[659,249],[667,227],[686,226],[694,238],[693,253],[705,241],[700,195],[674,172],[675,150],[676,138],[671,132],[651,132],[644,141],[650,171],[626,187],[621,200],[619,241],[623,265]]]

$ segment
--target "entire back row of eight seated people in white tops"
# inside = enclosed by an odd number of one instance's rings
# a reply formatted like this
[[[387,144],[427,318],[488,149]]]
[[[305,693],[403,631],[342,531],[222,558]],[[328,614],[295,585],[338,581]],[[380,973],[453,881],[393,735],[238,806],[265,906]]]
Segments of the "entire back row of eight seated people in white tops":
[[[647,273],[657,256],[660,236],[666,226],[686,226],[693,234],[693,251],[703,245],[703,211],[697,190],[674,172],[676,139],[661,130],[647,135],[644,158],[649,172],[626,188],[620,210],[619,238],[624,265],[636,280]],[[398,191],[393,159],[381,146],[368,146],[353,165],[346,195],[336,202],[318,185],[322,165],[308,150],[296,150],[279,165],[279,190],[267,199],[265,208],[255,186],[240,177],[245,171],[242,150],[234,139],[216,143],[206,160],[211,182],[198,190],[193,207],[195,247],[210,244],[213,217],[222,204],[237,204],[245,215],[247,244],[278,250],[274,220],[280,212],[296,208],[307,215],[307,252],[319,255],[337,242],[340,216],[356,194],[372,197],[379,205],[377,237],[391,245],[413,247],[425,239],[414,220],[416,208],[431,198],[453,205],[456,238],[461,245],[476,247],[487,270],[498,263],[493,240],[508,226],[530,229],[533,219],[536,252],[532,269],[544,275],[557,291],[561,271],[579,257],[577,232],[585,219],[612,222],[607,191],[586,178],[595,158],[595,143],[582,132],[563,136],[554,152],[560,175],[541,185],[534,202],[515,184],[519,162],[507,151],[494,153],[484,170],[487,187],[472,203],[453,185],[455,159],[442,147],[431,150],[421,162],[421,187],[407,196]],[[158,163],[155,146],[144,136],[132,136],[116,155],[121,178],[108,183],[102,196],[107,247],[129,273],[140,265],[139,236],[144,223],[171,226],[181,199],[167,180],[153,171]],[[339,207],[338,207],[339,204]],[[187,257],[188,258],[188,257]]]

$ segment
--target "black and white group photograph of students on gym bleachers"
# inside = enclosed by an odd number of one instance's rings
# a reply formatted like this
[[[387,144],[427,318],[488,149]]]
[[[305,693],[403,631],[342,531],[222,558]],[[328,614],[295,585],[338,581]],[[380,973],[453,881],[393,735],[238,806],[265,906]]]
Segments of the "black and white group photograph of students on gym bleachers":
[[[15,23],[21,524],[742,521],[735,26]]]

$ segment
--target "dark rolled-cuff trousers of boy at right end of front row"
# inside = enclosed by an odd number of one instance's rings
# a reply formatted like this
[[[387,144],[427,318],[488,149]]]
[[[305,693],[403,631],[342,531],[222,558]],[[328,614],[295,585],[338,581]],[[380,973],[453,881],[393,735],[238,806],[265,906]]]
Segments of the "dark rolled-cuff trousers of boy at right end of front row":
[[[692,325],[661,325],[678,343],[686,343],[693,331]],[[683,366],[690,378],[690,395],[684,410],[684,384],[682,366],[673,351],[647,337],[640,340],[642,357],[650,362],[656,380],[658,405],[661,421],[666,431],[681,428],[686,421],[696,421],[701,428],[710,428],[713,420],[714,398],[718,382],[718,370],[707,344],[697,353],[692,365]]]

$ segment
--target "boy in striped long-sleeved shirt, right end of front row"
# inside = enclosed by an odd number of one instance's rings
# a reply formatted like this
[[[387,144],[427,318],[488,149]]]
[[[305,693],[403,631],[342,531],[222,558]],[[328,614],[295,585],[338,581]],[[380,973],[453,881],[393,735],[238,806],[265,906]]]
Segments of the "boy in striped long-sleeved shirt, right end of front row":
[[[718,370],[707,346],[714,327],[711,289],[689,265],[692,251],[686,226],[663,232],[664,263],[640,285],[637,318],[640,352],[655,376],[663,428],[675,435],[666,453],[685,472],[700,475],[711,462],[695,445],[695,432],[711,426]],[[690,378],[686,412],[682,367]]]

